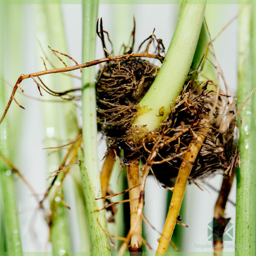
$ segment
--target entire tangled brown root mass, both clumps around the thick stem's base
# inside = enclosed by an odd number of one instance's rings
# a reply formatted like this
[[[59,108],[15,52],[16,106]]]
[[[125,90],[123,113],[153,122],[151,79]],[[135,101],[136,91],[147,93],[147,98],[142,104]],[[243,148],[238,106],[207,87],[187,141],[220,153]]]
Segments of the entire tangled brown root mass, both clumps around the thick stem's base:
[[[203,86],[198,86],[193,79],[186,82],[159,131],[150,132],[143,140],[136,139],[135,133],[140,131],[134,131],[131,125],[137,115],[136,104],[154,81],[157,71],[158,67],[148,61],[130,59],[120,64],[111,62],[99,74],[96,84],[98,124],[107,137],[108,147],[123,149],[123,163],[126,164],[142,157],[160,182],[172,186],[189,143],[206,127],[207,137],[190,177],[206,177],[217,170],[230,176],[239,162],[238,148],[233,140],[236,120],[229,120],[227,131],[220,129],[224,127],[224,112],[230,112],[231,104],[223,94],[215,102],[216,92],[207,89],[212,81]],[[148,163],[148,156],[159,139],[164,146],[159,148],[153,162]]]

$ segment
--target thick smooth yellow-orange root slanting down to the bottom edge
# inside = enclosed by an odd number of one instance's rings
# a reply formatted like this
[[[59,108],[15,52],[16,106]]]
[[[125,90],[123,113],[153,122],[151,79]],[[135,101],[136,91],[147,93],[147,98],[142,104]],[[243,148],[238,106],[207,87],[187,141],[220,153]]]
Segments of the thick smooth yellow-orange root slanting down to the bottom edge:
[[[195,141],[199,143],[193,142],[189,144],[190,151],[185,154],[184,160],[180,165],[163,233],[159,239],[156,256],[165,255],[169,241],[172,238],[172,233],[178,220],[181,202],[185,193],[186,183],[193,164],[195,163],[195,159],[201,149],[201,143],[203,143],[206,138],[207,128],[201,128],[201,133],[205,133],[205,135],[199,135],[196,138]]]

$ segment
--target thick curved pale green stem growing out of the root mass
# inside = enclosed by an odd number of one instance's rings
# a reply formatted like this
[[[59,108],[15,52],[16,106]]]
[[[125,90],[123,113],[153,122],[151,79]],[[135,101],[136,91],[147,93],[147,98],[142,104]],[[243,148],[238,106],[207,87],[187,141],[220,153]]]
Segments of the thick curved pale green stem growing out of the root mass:
[[[138,104],[141,110],[134,120],[134,125],[143,126],[148,131],[158,128],[168,116],[188,75],[206,6],[204,0],[200,4],[192,2],[182,1],[175,32],[163,65],[150,89]],[[160,112],[163,114],[160,115]]]

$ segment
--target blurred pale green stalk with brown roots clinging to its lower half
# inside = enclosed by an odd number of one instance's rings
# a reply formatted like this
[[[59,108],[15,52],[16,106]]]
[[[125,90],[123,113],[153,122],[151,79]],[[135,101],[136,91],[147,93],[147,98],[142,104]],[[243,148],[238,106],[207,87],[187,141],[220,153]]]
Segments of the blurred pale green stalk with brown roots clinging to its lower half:
[[[62,24],[62,17],[60,12],[59,5],[42,5],[37,7],[36,17],[44,17],[46,23],[45,25],[41,25],[41,23],[37,26],[37,38],[44,47],[44,50],[47,52],[47,55],[52,55],[49,53],[45,47],[47,45],[54,44],[52,46],[53,49],[58,47],[55,44],[57,38],[61,47],[63,46],[64,38],[64,29]],[[44,20],[44,19],[42,19]],[[51,40],[51,41],[49,41]],[[65,49],[61,48],[58,50],[65,52]],[[41,50],[40,50],[40,54]],[[55,56],[54,56],[55,57]],[[56,58],[56,57],[55,57]],[[52,59],[52,58],[51,58]],[[57,59],[57,58],[56,58]],[[61,62],[54,61],[56,65],[61,65]],[[41,68],[44,67],[41,61]],[[49,76],[42,78],[44,83],[47,84],[52,90],[61,91],[66,90],[67,86],[63,80],[59,81],[59,77],[57,76]],[[68,82],[68,79],[66,80]],[[61,83],[62,82],[62,83]],[[52,99],[52,96],[47,95],[44,92],[44,99]],[[47,146],[58,146],[59,142],[56,142],[55,138],[58,138],[59,141],[63,141],[65,139],[69,139],[64,137],[64,128],[63,127],[63,119],[65,119],[64,110],[67,109],[67,103],[50,103],[44,104],[44,125],[46,129],[46,145]],[[64,113],[63,113],[64,111]],[[72,137],[72,135],[71,135]],[[58,170],[58,166],[60,166],[62,162],[63,155],[61,152],[51,154],[47,158],[47,172],[53,172]],[[58,175],[57,181],[61,180],[63,173]],[[52,181],[52,180],[51,180]],[[50,182],[51,182],[50,181]],[[49,186],[49,184],[48,184]],[[50,241],[52,243],[52,251],[54,255],[61,253],[62,255],[68,255],[70,252],[70,236],[69,236],[69,228],[67,221],[67,213],[64,205],[61,203],[60,197],[63,196],[63,190],[60,186],[53,186],[49,192],[48,199],[50,202],[50,208],[52,211],[51,215],[51,226],[50,226]]]

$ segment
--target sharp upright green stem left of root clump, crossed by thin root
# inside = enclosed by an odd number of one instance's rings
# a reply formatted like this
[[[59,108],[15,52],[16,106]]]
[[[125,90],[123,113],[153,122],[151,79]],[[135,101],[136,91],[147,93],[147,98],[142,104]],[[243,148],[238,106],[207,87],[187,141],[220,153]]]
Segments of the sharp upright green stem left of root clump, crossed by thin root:
[[[83,41],[82,62],[95,58],[96,20],[98,1],[83,1]],[[108,236],[102,231],[106,229],[105,212],[97,211],[103,207],[98,164],[98,141],[96,121],[95,68],[89,67],[82,73],[82,121],[84,161],[81,164],[81,176],[86,199],[87,218],[90,227],[90,244],[93,255],[110,254]],[[96,212],[93,212],[96,211]],[[99,223],[98,223],[99,221]]]

